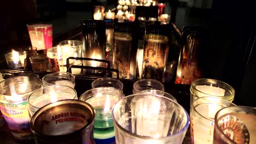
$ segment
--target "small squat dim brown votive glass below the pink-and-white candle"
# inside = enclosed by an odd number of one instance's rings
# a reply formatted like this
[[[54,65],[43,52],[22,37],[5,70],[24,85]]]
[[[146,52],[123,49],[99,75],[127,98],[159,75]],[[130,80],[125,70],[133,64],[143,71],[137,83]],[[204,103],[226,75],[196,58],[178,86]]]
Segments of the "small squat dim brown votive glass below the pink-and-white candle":
[[[49,59],[46,55],[36,55],[30,57],[33,71],[51,72]]]

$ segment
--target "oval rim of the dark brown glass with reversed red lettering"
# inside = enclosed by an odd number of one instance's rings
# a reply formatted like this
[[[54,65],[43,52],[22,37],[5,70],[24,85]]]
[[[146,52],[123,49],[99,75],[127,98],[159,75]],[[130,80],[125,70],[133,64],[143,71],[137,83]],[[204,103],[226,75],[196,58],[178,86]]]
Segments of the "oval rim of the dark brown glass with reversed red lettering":
[[[65,103],[66,102],[66,103]],[[67,103],[69,102],[69,103]],[[59,104],[59,105],[58,105]],[[30,123],[31,123],[31,131],[33,132],[33,134],[39,135],[40,137],[51,137],[51,138],[56,138],[56,137],[63,137],[63,136],[72,136],[72,135],[77,135],[79,133],[81,133],[84,129],[89,128],[90,125],[92,124],[92,122],[90,122],[90,124],[86,124],[84,125],[84,127],[74,131],[73,133],[68,133],[65,135],[45,135],[40,133],[39,131],[35,131],[34,129],[34,122],[36,121],[37,117],[40,116],[40,114],[42,114],[43,112],[45,112],[46,110],[49,110],[52,107],[56,107],[56,106],[60,106],[60,105],[67,105],[67,104],[76,104],[76,105],[83,105],[86,106],[87,108],[90,108],[89,110],[91,111],[91,115],[92,115],[92,119],[95,118],[95,110],[94,107],[92,107],[89,103],[86,103],[85,101],[79,101],[79,100],[74,100],[74,99],[66,99],[66,100],[60,100],[60,101],[56,101],[55,103],[50,103],[47,104],[43,107],[41,107],[39,110],[37,110],[34,115],[31,117]]]

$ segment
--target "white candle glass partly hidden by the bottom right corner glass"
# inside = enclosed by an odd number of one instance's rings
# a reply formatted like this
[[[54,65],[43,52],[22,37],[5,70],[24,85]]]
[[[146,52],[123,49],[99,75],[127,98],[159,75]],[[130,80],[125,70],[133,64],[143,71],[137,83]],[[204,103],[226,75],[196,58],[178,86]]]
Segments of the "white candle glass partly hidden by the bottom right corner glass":
[[[235,104],[216,97],[201,97],[196,99],[190,109],[191,143],[212,143],[214,116],[218,110],[228,106],[235,106]]]

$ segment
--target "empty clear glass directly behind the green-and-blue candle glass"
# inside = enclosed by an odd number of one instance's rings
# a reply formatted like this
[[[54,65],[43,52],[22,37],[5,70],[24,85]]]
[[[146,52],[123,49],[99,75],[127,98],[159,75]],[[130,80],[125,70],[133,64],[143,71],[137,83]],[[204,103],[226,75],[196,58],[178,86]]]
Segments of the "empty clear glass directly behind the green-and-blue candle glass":
[[[123,92],[124,85],[118,79],[114,79],[111,77],[104,77],[104,78],[97,79],[91,83],[91,88],[97,88],[97,87],[113,87]]]

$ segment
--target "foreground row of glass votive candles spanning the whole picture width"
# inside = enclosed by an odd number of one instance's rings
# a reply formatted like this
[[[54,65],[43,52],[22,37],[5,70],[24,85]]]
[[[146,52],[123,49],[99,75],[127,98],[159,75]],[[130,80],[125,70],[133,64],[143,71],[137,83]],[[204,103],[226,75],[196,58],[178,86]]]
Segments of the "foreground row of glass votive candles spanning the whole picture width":
[[[156,80],[136,81],[133,95],[125,97],[121,81],[101,78],[79,100],[71,100],[78,99],[74,80],[58,72],[45,75],[43,83],[36,76],[2,81],[1,111],[15,138],[32,136],[30,122],[39,143],[69,143],[61,137],[74,140],[76,131],[87,131],[79,136],[88,143],[182,143],[190,123],[193,143],[256,142],[256,109],[233,104],[235,91],[222,81],[193,81],[189,118]]]

